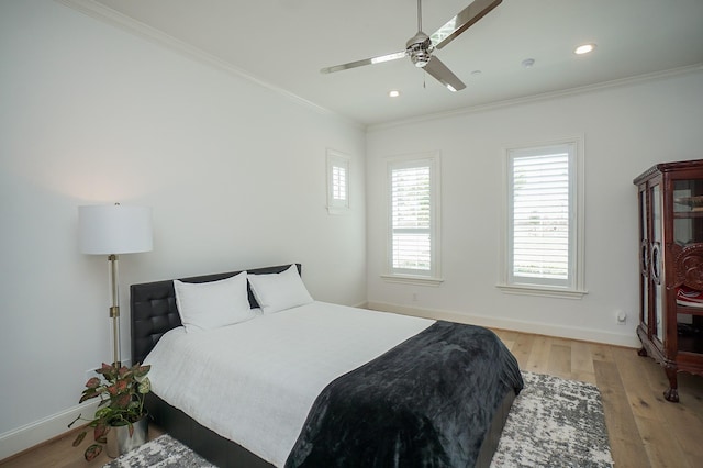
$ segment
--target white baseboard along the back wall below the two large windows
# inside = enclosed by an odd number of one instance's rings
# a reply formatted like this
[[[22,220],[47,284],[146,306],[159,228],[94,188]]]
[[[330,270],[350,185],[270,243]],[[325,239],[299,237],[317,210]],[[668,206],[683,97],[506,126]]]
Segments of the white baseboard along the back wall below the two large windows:
[[[547,323],[525,322],[512,319],[500,319],[484,315],[473,315],[454,311],[409,308],[405,305],[390,304],[386,302],[368,302],[368,309],[383,312],[394,312],[404,315],[421,316],[433,320],[446,320],[449,322],[469,323],[489,328],[511,330],[514,332],[534,333],[537,335],[557,336],[561,338],[580,339],[584,342],[604,343],[615,346],[639,348],[641,344],[636,334],[617,334],[591,328],[577,328],[565,325]],[[631,330],[629,327],[627,330]]]

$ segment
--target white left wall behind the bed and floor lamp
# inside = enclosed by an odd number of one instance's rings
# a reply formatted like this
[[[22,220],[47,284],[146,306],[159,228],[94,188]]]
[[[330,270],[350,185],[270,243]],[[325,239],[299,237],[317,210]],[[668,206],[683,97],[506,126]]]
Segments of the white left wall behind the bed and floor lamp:
[[[325,151],[352,156],[352,212],[325,209]],[[111,360],[107,258],[77,207],[149,205],[129,285],[300,261],[313,297],[366,299],[365,135],[334,115],[49,0],[0,2],[0,459],[70,421]],[[342,248],[341,248],[342,246]]]

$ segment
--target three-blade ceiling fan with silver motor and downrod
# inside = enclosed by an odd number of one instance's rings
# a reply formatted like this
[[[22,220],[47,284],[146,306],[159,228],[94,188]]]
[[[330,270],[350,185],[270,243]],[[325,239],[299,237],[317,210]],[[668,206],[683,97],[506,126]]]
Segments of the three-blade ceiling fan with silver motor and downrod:
[[[459,91],[466,88],[466,85],[461,82],[439,58],[433,56],[432,53],[449,44],[455,37],[488,14],[488,12],[498,7],[502,1],[503,0],[473,0],[471,4],[428,36],[422,32],[422,0],[417,0],[417,34],[408,40],[404,51],[326,67],[321,69],[320,73],[331,74],[333,71],[346,70],[364,65],[381,64],[383,62],[410,57],[416,67],[424,68],[425,71],[442,85],[446,86],[450,91]]]

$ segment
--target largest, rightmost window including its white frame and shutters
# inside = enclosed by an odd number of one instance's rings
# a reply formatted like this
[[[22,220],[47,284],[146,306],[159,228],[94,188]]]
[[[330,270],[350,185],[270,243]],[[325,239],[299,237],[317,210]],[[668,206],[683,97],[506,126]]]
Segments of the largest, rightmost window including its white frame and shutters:
[[[580,298],[583,196],[580,138],[506,152],[502,287]]]

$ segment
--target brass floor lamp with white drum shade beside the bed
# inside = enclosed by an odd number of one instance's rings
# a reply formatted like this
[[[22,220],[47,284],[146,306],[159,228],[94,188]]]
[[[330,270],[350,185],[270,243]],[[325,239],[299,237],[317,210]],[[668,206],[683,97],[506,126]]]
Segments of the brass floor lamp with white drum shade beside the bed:
[[[113,365],[120,367],[118,255],[152,250],[152,210],[146,207],[123,207],[120,203],[78,207],[78,235],[80,252],[108,256],[112,292],[109,311],[112,319]]]

